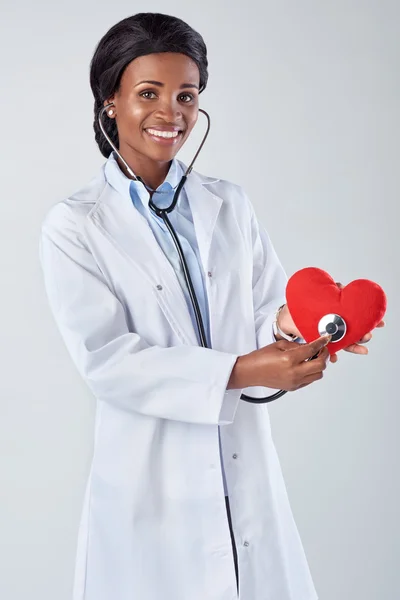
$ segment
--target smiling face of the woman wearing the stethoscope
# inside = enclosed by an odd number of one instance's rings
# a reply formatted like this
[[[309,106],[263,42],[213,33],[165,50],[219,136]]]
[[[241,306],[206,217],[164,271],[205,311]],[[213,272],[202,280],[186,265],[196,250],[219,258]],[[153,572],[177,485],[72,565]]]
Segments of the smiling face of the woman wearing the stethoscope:
[[[199,83],[199,69],[185,54],[148,54],[128,64],[119,90],[104,102],[115,105],[121,155],[153,187],[196,124]],[[157,135],[162,131],[168,138]]]

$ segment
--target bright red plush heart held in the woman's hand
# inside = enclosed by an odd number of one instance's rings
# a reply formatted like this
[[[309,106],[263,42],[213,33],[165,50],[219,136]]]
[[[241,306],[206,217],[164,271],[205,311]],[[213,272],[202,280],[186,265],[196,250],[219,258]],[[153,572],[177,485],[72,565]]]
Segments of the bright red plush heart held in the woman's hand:
[[[356,279],[340,289],[332,277],[315,267],[294,273],[286,288],[286,301],[292,319],[306,342],[320,337],[318,323],[328,314],[337,314],[347,325],[345,336],[330,342],[334,354],[360,341],[382,320],[386,312],[383,289],[368,279]]]

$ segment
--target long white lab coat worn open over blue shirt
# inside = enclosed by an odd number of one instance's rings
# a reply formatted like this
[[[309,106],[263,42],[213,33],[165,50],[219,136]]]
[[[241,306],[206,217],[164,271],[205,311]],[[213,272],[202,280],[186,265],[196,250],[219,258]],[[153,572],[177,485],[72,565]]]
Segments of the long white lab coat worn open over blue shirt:
[[[315,600],[268,405],[226,390],[237,356],[274,341],[286,276],[240,186],[192,171],[185,188],[212,349],[197,345],[174,270],[104,165],[43,221],[49,304],[97,399],[74,600],[238,597],[218,425],[241,600]]]

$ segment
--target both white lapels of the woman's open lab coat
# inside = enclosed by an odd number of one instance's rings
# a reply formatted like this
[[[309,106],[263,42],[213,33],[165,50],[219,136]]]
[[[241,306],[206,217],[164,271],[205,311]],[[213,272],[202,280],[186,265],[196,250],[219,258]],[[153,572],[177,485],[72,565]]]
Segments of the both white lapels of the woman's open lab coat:
[[[185,165],[181,164],[185,169]],[[212,180],[204,178],[204,181]],[[203,187],[202,176],[195,172],[188,176],[184,187],[193,215],[201,261],[207,273],[211,239],[222,200]],[[106,185],[88,218],[155,290],[162,287],[163,293],[158,293],[157,298],[171,326],[185,343],[197,345],[194,325],[176,273],[130,197]]]

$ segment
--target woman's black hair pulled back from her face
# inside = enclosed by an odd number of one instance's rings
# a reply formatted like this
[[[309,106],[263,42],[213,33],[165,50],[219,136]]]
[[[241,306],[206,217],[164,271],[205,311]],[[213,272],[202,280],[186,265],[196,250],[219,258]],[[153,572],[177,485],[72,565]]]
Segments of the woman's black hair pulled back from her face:
[[[137,13],[116,23],[101,38],[90,63],[90,87],[94,96],[95,140],[106,158],[112,152],[98,124],[98,114],[104,100],[118,91],[128,64],[146,54],[179,52],[189,56],[200,72],[199,93],[207,85],[207,47],[202,36],[187,23],[160,13]],[[119,148],[115,119],[104,119],[104,128]]]

